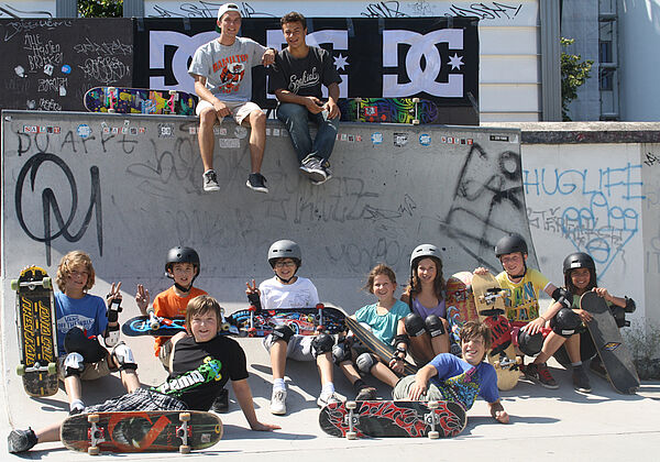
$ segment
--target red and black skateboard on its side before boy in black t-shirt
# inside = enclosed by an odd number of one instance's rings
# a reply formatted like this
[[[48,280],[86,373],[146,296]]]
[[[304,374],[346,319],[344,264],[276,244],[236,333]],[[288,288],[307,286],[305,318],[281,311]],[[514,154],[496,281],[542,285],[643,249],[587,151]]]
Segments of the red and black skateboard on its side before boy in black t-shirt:
[[[222,438],[222,421],[198,410],[79,414],[62,424],[63,444],[74,451],[145,452],[206,449]]]

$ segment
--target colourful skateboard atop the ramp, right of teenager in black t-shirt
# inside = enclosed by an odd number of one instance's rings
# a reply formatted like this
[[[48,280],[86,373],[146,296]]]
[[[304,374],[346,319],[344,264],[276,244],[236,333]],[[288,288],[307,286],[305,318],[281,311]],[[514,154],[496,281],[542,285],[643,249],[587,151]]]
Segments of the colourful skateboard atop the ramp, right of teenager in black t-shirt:
[[[440,123],[438,106],[419,98],[349,98],[339,100],[341,120],[345,122],[380,122],[429,124]]]

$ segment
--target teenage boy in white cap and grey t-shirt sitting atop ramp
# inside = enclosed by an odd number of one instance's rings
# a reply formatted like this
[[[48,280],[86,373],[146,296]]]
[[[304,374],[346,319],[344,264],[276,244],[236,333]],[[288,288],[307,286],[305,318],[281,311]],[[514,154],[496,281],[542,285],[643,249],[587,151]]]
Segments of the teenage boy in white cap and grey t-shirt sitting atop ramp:
[[[220,36],[201,45],[193,56],[188,74],[195,79],[199,96],[199,153],[204,164],[204,190],[220,189],[213,170],[213,125],[231,116],[238,124],[250,125],[250,162],[252,173],[246,186],[268,193],[261,165],[266,144],[266,116],[250,101],[254,66],[270,66],[275,62],[275,50],[266,48],[251,38],[239,37],[241,11],[235,3],[224,3],[218,10],[216,31]]]

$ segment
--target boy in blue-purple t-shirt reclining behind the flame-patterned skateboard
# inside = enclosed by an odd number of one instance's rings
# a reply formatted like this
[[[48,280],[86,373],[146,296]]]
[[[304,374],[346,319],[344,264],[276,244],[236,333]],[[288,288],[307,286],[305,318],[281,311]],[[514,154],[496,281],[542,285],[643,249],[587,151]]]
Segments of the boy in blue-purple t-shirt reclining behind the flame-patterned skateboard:
[[[508,414],[499,402],[497,374],[484,362],[491,346],[491,329],[470,321],[461,329],[460,337],[463,360],[451,353],[438,354],[417,374],[402,378],[392,392],[393,398],[454,402],[469,410],[479,395],[488,403],[495,420],[508,424]]]

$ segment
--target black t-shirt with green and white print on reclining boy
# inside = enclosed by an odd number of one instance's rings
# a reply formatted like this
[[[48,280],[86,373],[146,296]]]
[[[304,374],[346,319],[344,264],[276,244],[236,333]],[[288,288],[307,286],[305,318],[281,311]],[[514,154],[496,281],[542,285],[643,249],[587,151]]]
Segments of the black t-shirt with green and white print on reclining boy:
[[[193,410],[208,410],[228,380],[248,378],[245,352],[228,337],[202,343],[186,337],[176,342],[172,355],[169,377],[152,389],[180,399]]]

